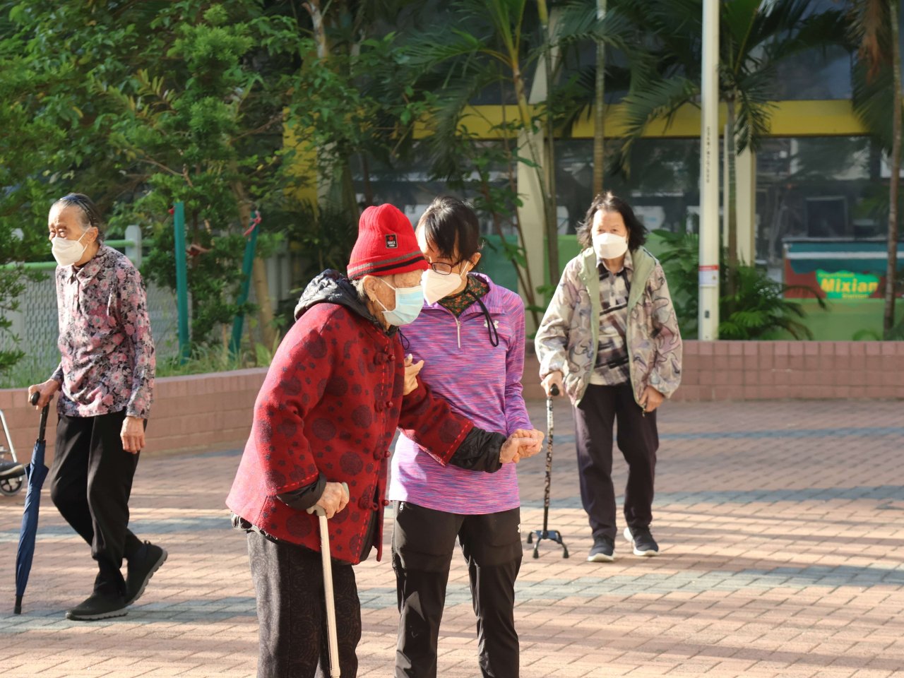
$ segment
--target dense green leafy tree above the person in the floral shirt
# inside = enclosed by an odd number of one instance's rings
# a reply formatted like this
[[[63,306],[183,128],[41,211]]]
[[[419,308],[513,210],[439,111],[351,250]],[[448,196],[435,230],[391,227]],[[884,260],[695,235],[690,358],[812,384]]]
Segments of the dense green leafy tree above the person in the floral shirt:
[[[297,71],[286,3],[0,2],[0,232],[40,246],[61,194],[91,195],[110,231],[142,225],[146,278],[174,287],[168,211],[185,203],[192,341],[217,340],[240,308],[242,231],[252,207],[281,207],[283,125]],[[291,180],[297,184],[297,180]],[[278,234],[259,238],[259,252]],[[14,259],[16,260],[16,259]]]

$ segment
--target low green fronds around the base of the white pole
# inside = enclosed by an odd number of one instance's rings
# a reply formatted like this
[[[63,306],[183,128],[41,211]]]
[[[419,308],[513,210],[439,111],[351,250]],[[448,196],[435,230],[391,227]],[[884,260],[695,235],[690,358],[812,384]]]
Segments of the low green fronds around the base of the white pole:
[[[654,231],[665,249],[660,259],[672,291],[675,313],[682,334],[697,336],[699,240],[694,233]],[[723,258],[724,259],[724,258]],[[724,263],[724,262],[723,262]],[[801,304],[785,298],[790,289],[803,290],[825,308],[825,302],[809,287],[789,287],[753,266],[740,265],[733,271],[720,266],[720,291],[729,288],[728,276],[735,276],[737,290],[719,299],[720,339],[774,339],[780,332],[796,339],[812,339],[810,329],[800,322],[806,313]]]

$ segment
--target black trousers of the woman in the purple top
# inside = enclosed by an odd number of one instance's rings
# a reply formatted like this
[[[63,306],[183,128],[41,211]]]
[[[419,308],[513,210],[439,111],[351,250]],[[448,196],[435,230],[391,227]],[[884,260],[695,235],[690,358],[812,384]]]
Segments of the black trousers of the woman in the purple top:
[[[514,580],[521,569],[520,509],[485,515],[396,502],[392,568],[399,602],[396,678],[436,678],[439,623],[456,537],[467,562],[484,678],[517,678]]]

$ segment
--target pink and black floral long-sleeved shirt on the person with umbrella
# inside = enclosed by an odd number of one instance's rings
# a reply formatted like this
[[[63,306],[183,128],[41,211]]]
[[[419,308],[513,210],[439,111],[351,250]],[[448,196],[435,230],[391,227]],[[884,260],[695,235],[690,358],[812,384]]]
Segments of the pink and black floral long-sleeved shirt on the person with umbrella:
[[[61,363],[57,410],[96,417],[126,410],[147,419],[154,391],[154,340],[137,268],[101,245],[81,268],[56,269]]]

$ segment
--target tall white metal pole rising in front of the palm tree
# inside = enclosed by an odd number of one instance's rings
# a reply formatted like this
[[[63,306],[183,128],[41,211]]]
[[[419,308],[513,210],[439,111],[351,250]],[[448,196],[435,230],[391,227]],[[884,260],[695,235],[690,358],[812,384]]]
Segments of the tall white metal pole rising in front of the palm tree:
[[[719,0],[703,0],[700,88],[700,333],[719,338]]]

